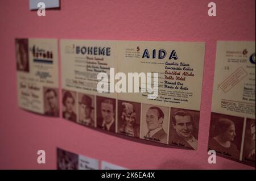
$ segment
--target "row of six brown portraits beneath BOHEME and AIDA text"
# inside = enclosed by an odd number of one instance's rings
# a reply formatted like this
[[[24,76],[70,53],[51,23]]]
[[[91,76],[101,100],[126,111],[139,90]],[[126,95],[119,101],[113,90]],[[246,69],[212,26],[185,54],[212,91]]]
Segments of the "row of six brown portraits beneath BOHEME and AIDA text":
[[[116,100],[69,90],[63,90],[62,103],[63,118],[69,121],[143,140],[197,149],[200,111]]]

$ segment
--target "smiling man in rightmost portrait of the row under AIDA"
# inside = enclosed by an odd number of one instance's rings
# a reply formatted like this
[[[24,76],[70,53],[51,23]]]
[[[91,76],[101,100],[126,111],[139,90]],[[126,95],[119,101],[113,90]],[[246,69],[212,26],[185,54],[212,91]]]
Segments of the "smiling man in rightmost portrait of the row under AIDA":
[[[184,110],[177,110],[172,115],[172,127],[175,132],[171,134],[172,142],[187,148],[197,149],[197,139],[193,136],[193,117]]]

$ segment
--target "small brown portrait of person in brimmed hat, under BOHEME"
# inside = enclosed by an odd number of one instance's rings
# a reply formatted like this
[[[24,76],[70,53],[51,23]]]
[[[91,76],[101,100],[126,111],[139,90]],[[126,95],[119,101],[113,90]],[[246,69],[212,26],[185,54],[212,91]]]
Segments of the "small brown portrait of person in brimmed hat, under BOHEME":
[[[94,96],[79,93],[79,124],[96,127],[94,121]]]

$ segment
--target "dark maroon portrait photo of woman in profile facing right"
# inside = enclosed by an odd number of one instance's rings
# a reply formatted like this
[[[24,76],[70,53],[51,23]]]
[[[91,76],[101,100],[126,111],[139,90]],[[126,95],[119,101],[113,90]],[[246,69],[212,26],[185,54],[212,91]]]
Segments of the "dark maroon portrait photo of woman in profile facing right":
[[[222,157],[238,160],[243,131],[243,117],[213,113],[210,118],[208,150]]]

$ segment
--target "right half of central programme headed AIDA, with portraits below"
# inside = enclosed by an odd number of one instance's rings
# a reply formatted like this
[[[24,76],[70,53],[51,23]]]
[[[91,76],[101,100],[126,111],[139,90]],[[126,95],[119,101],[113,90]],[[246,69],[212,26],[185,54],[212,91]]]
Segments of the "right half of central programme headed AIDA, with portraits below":
[[[118,71],[147,73],[152,82],[151,93],[141,83],[139,92],[118,94],[118,101],[131,104],[135,115],[141,113],[141,139],[197,149],[204,52],[202,42],[118,42]],[[148,98],[156,88],[157,97]]]

